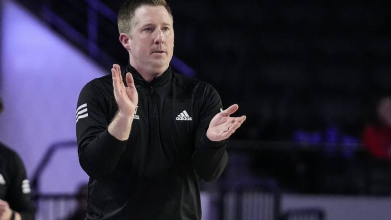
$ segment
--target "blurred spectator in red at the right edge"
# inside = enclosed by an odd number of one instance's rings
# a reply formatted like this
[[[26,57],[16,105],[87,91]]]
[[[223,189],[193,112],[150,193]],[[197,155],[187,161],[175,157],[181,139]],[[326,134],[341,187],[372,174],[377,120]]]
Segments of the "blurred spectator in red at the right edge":
[[[375,117],[363,133],[363,144],[375,158],[391,160],[391,97],[376,103]]]

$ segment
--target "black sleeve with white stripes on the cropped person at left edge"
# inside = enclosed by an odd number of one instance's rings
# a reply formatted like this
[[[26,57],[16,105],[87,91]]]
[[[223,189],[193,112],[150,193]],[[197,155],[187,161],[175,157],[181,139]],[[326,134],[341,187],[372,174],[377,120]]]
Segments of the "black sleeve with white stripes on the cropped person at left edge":
[[[6,201],[9,207],[18,212],[22,220],[34,220],[35,207],[31,200],[30,183],[26,177],[26,169],[17,154],[11,160],[11,184]]]

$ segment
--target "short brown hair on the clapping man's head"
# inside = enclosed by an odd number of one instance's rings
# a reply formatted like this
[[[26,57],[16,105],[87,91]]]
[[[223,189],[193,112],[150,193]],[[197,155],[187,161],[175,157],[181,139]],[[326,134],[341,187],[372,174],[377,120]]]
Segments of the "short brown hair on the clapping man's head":
[[[143,5],[164,6],[174,22],[171,8],[165,0],[127,0],[120,7],[120,10],[118,12],[117,22],[118,22],[118,31],[120,32],[120,34],[130,33],[131,28],[135,24],[134,12],[137,10],[137,8]]]

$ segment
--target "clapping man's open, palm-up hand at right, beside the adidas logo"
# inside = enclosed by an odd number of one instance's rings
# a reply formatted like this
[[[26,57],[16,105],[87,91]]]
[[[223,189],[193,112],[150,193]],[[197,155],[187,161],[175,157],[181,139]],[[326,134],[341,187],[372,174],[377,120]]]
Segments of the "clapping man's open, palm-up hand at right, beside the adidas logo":
[[[236,129],[246,120],[246,116],[231,117],[230,115],[239,109],[237,104],[234,104],[228,109],[217,113],[210,121],[209,128],[206,131],[206,136],[211,141],[222,141],[229,138]]]

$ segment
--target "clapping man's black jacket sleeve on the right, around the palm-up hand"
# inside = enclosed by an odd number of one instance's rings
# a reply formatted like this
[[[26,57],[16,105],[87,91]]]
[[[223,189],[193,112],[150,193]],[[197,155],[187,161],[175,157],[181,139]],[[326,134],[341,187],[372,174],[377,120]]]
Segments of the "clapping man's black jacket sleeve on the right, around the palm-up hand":
[[[203,94],[195,143],[195,168],[205,181],[213,181],[224,171],[228,163],[227,140],[213,142],[206,137],[211,119],[220,112],[221,99],[216,90],[208,86]]]

